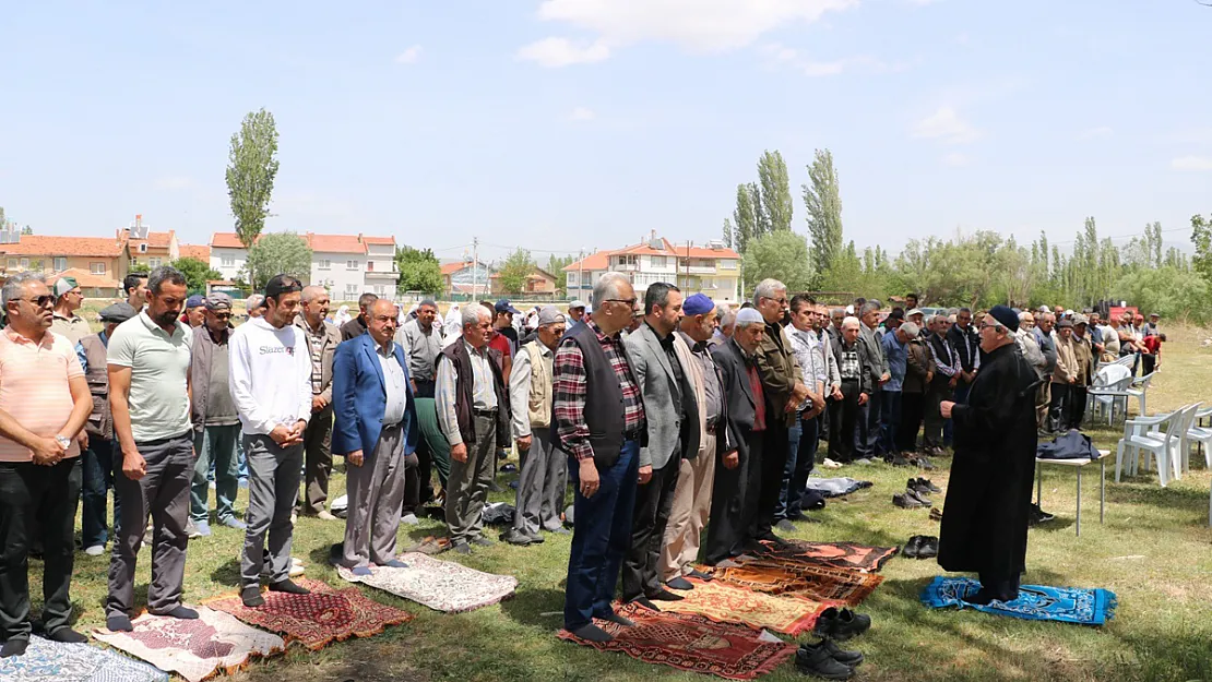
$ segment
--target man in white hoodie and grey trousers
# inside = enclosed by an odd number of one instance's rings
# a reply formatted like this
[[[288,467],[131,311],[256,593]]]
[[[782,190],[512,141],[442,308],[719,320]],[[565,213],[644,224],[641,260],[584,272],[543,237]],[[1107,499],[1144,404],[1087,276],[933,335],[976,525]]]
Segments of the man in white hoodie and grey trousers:
[[[269,538],[269,589],[305,595],[290,579],[291,512],[303,469],[303,431],[311,417],[311,356],[292,322],[303,285],[276,275],[265,285],[265,314],[236,327],[230,343],[231,397],[244,426],[248,458],[248,529],[240,562],[240,597],[265,603],[261,571]]]

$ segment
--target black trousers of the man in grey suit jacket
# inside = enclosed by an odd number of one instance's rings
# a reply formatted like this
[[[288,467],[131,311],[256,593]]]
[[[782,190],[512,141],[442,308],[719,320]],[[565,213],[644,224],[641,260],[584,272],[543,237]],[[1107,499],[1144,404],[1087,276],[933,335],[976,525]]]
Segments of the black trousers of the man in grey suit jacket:
[[[635,488],[635,510],[631,512],[631,549],[623,558],[624,602],[659,592],[661,545],[674,508],[674,491],[681,457],[674,453],[661,469],[652,470],[652,478]]]

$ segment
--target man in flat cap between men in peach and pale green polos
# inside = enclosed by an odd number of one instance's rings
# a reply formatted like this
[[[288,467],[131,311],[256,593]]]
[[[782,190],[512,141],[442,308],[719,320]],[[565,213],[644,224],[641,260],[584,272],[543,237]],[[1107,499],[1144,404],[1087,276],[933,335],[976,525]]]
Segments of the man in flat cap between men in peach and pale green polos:
[[[88,434],[88,448],[82,454],[84,485],[81,487],[82,510],[80,515],[80,540],[88,556],[105,552],[109,539],[105,522],[107,495],[114,487],[114,419],[109,412],[109,372],[105,371],[105,349],[119,325],[138,315],[125,300],[101,310],[104,329],[80,339],[76,357],[84,367],[84,378],[92,394],[92,413],[84,424]],[[119,453],[121,454],[121,453]],[[114,535],[118,535],[118,515],[121,500],[114,491]]]

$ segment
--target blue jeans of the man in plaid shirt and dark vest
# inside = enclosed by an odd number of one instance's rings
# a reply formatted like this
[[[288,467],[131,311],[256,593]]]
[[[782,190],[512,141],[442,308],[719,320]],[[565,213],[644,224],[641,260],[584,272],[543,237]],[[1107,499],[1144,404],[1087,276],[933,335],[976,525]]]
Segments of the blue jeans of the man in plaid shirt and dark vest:
[[[618,462],[598,470],[594,497],[581,494],[581,465],[568,457],[573,531],[568,579],[564,596],[564,626],[577,630],[593,618],[613,613],[614,584],[623,556],[631,546],[631,511],[640,475],[640,443],[624,441]]]

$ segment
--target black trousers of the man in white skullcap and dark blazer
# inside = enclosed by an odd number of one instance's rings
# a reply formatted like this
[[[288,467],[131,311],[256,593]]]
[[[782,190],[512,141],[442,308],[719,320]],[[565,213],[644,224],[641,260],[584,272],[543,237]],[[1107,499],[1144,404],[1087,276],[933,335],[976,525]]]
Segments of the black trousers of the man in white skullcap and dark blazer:
[[[749,528],[758,511],[761,491],[761,460],[765,437],[761,431],[745,436],[749,452],[741,455],[736,469],[715,459],[715,483],[711,488],[711,515],[707,525],[703,560],[709,566],[737,556],[749,541]]]

